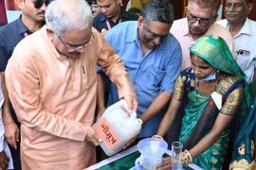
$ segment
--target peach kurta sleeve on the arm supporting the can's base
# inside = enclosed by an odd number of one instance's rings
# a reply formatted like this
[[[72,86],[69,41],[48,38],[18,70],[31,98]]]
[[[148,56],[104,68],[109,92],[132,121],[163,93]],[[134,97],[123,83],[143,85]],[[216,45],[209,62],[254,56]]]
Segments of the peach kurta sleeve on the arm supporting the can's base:
[[[20,55],[19,57],[25,55],[24,53],[14,51],[14,55]],[[88,127],[49,112],[42,106],[40,77],[33,62],[31,58],[15,57],[9,59],[6,70],[9,99],[22,126],[62,138],[83,141]]]

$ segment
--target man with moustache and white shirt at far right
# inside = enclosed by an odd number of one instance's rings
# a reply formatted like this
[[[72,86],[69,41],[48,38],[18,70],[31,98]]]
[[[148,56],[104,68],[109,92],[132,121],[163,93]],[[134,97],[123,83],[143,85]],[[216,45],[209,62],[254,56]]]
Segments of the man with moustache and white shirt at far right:
[[[218,21],[229,29],[235,44],[237,63],[247,75],[252,96],[256,96],[256,22],[247,18],[253,8],[253,0],[227,0],[225,20]],[[254,87],[253,87],[254,86]]]

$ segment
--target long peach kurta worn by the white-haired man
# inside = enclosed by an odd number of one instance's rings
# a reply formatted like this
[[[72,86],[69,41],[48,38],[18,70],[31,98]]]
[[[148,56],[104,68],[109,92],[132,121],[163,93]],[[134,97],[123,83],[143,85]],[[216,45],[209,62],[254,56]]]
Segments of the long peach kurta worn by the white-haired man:
[[[21,122],[23,169],[82,169],[95,163],[85,140],[94,123],[96,65],[114,81],[127,82],[121,59],[92,30],[79,58],[60,55],[46,27],[20,42],[6,70],[9,98]]]

